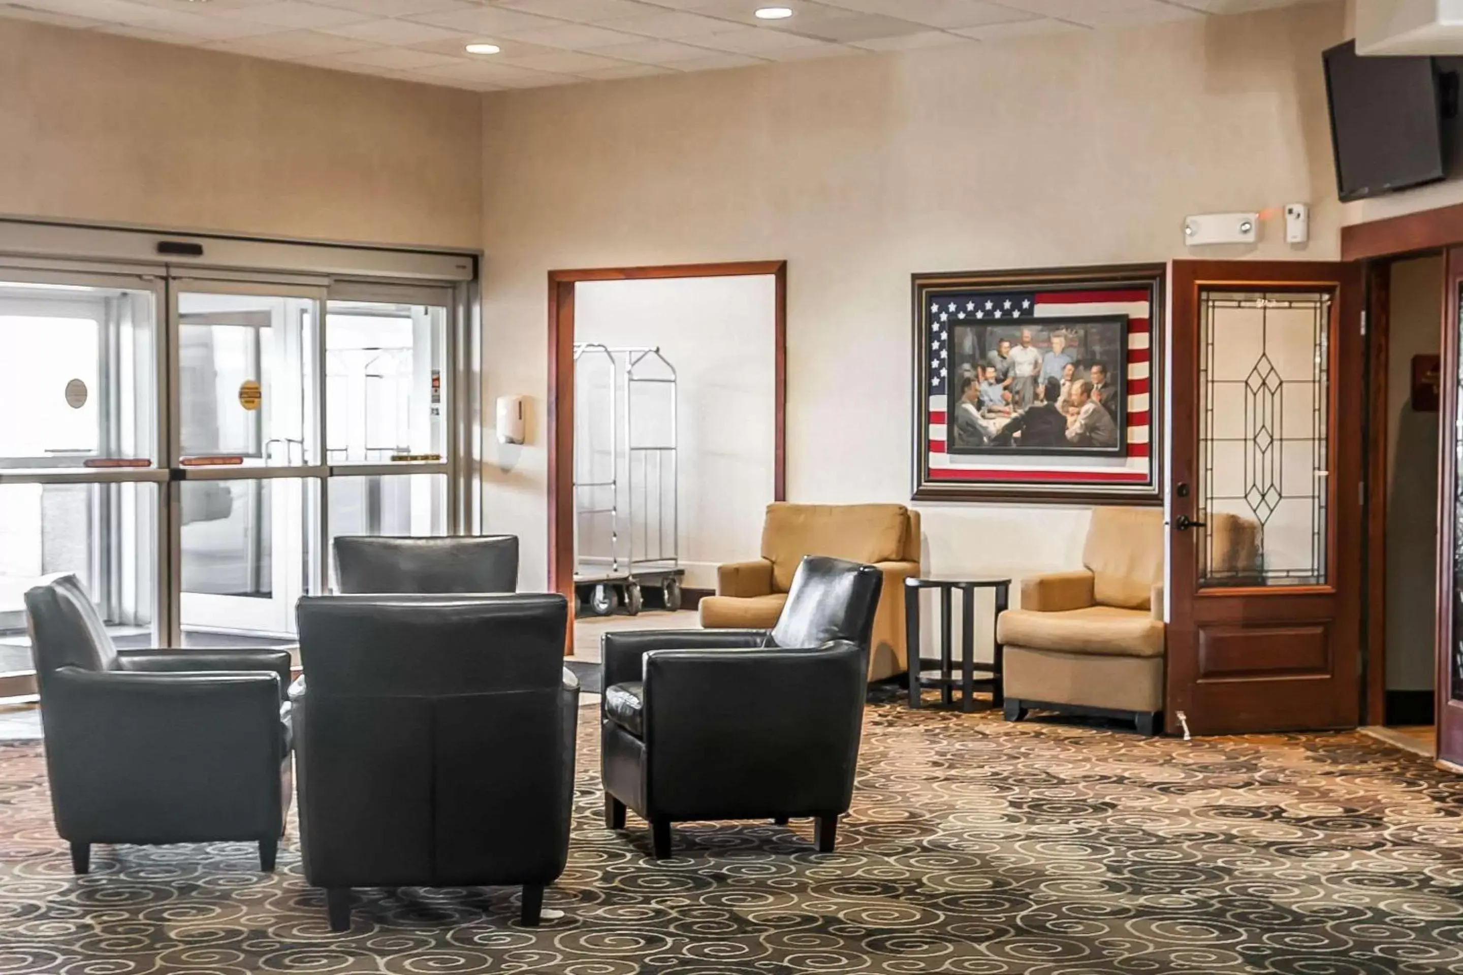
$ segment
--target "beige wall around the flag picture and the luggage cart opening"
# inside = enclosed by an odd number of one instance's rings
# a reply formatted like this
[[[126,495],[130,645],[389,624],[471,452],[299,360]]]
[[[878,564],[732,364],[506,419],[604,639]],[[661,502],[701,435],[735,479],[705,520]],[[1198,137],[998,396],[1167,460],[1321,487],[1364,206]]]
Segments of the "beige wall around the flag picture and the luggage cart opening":
[[[1296,200],[1309,247],[1271,218],[1210,256],[1336,256],[1320,53],[1342,23],[1325,3],[489,95],[486,384],[540,409],[490,456],[486,507],[522,535],[524,583],[546,574],[547,269],[787,259],[789,497],[903,501],[911,272],[1179,257],[1188,213]],[[941,570],[1071,566],[1087,520],[925,512]]]

